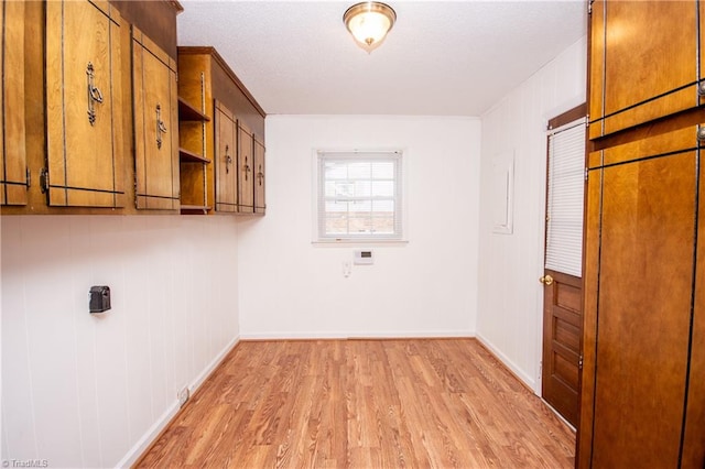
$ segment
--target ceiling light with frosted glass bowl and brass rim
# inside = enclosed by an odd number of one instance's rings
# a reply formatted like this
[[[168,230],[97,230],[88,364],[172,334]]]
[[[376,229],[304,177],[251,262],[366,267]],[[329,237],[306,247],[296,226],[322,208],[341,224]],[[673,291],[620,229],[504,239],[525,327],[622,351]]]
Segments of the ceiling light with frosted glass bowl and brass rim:
[[[360,47],[369,53],[377,48],[394,25],[397,13],[379,1],[364,1],[348,8],[343,22]]]

